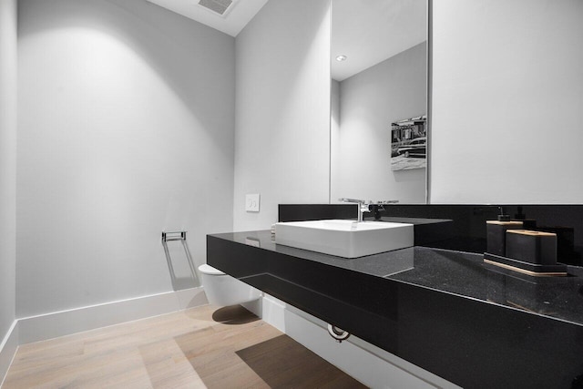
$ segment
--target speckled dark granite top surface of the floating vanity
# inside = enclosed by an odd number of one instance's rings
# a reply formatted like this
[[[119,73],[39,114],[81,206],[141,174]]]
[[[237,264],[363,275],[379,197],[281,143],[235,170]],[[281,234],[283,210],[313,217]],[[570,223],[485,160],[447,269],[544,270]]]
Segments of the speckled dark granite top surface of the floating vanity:
[[[268,251],[583,326],[583,268],[568,277],[531,277],[483,261],[480,254],[413,247],[344,259],[276,244],[269,230],[214,234]]]

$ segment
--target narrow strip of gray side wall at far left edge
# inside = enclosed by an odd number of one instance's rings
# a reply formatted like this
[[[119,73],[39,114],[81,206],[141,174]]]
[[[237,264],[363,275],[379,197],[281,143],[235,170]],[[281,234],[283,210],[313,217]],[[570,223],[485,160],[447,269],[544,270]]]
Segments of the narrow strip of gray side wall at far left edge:
[[[0,0],[0,352],[15,321],[16,73],[16,1]]]

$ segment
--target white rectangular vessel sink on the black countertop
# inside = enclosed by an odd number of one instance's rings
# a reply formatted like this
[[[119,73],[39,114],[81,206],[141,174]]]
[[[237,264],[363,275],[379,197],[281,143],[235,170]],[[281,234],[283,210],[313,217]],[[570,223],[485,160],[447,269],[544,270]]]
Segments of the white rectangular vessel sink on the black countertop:
[[[413,224],[384,221],[310,220],[275,224],[275,242],[343,258],[358,258],[414,245]]]

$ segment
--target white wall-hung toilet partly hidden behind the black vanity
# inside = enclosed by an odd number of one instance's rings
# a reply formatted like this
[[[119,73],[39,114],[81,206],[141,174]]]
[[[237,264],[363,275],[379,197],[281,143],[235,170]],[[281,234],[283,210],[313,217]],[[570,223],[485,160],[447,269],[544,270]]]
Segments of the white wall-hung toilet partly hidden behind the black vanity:
[[[199,266],[199,272],[204,292],[212,305],[235,305],[252,302],[261,297],[261,291],[206,263]]]

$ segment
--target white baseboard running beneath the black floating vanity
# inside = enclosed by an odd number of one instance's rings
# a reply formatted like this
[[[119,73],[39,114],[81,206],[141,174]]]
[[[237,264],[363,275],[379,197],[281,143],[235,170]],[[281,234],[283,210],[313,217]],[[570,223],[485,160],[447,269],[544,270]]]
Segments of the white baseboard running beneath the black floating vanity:
[[[326,322],[271,296],[262,300],[265,313],[263,321],[269,322],[371,388],[459,389],[459,386],[354,335],[343,343],[338,343],[328,333]]]

